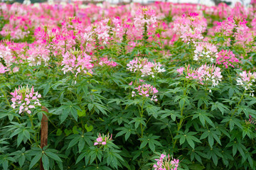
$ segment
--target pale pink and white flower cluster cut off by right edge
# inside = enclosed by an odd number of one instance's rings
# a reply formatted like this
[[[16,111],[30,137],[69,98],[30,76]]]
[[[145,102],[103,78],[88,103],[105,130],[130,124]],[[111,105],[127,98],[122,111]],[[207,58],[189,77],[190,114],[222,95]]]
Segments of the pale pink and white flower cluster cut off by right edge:
[[[254,92],[252,91],[251,86],[252,86],[252,83],[255,82],[256,72],[253,72],[252,74],[250,71],[248,73],[246,71],[243,71],[239,75],[240,77],[238,77],[237,79],[237,83],[238,83],[237,85],[243,86],[245,90],[250,90],[251,92]],[[250,94],[250,95],[253,96],[253,94]]]

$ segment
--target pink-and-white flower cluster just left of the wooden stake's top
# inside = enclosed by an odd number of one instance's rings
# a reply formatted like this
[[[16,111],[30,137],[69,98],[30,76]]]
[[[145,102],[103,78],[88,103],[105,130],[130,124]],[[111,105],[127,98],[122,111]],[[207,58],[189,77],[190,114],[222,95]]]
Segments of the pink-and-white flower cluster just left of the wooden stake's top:
[[[41,98],[41,94],[38,94],[38,92],[35,93],[33,86],[31,89],[29,89],[28,86],[18,86],[18,89],[15,89],[11,95],[13,96],[13,98],[11,98],[11,107],[19,107],[19,114],[23,112],[31,114],[31,108],[41,106],[38,100],[38,98]]]

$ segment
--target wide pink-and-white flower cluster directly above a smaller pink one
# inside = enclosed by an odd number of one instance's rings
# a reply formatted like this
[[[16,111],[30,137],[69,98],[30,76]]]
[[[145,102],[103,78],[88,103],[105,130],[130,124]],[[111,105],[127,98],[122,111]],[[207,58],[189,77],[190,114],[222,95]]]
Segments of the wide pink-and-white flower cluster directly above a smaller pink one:
[[[134,60],[127,64],[127,69],[129,69],[130,72],[140,71],[142,77],[151,76],[154,78],[154,74],[166,71],[164,68],[161,68],[161,66],[159,62],[149,62],[146,58],[135,57]]]

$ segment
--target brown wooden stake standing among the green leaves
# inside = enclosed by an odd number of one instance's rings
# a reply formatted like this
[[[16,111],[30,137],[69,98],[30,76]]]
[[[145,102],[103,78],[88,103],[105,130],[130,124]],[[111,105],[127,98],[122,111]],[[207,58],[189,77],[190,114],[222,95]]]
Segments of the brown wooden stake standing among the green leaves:
[[[43,111],[48,113],[48,109],[46,107],[42,107]],[[41,120],[41,148],[45,147],[47,145],[48,141],[48,118],[45,114],[43,114],[43,118]],[[43,169],[43,162],[42,159],[40,159],[40,170]]]

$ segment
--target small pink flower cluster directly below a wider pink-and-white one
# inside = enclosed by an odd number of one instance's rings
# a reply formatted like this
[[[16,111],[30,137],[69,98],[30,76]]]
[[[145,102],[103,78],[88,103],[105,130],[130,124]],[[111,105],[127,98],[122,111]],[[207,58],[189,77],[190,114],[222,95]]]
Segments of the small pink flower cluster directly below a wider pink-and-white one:
[[[151,101],[157,101],[156,93],[158,93],[158,90],[156,90],[156,88],[151,86],[150,84],[142,84],[142,86],[139,85],[134,89],[137,90],[137,93],[135,91],[132,91],[132,97],[139,94],[140,96],[144,97],[151,96]]]

